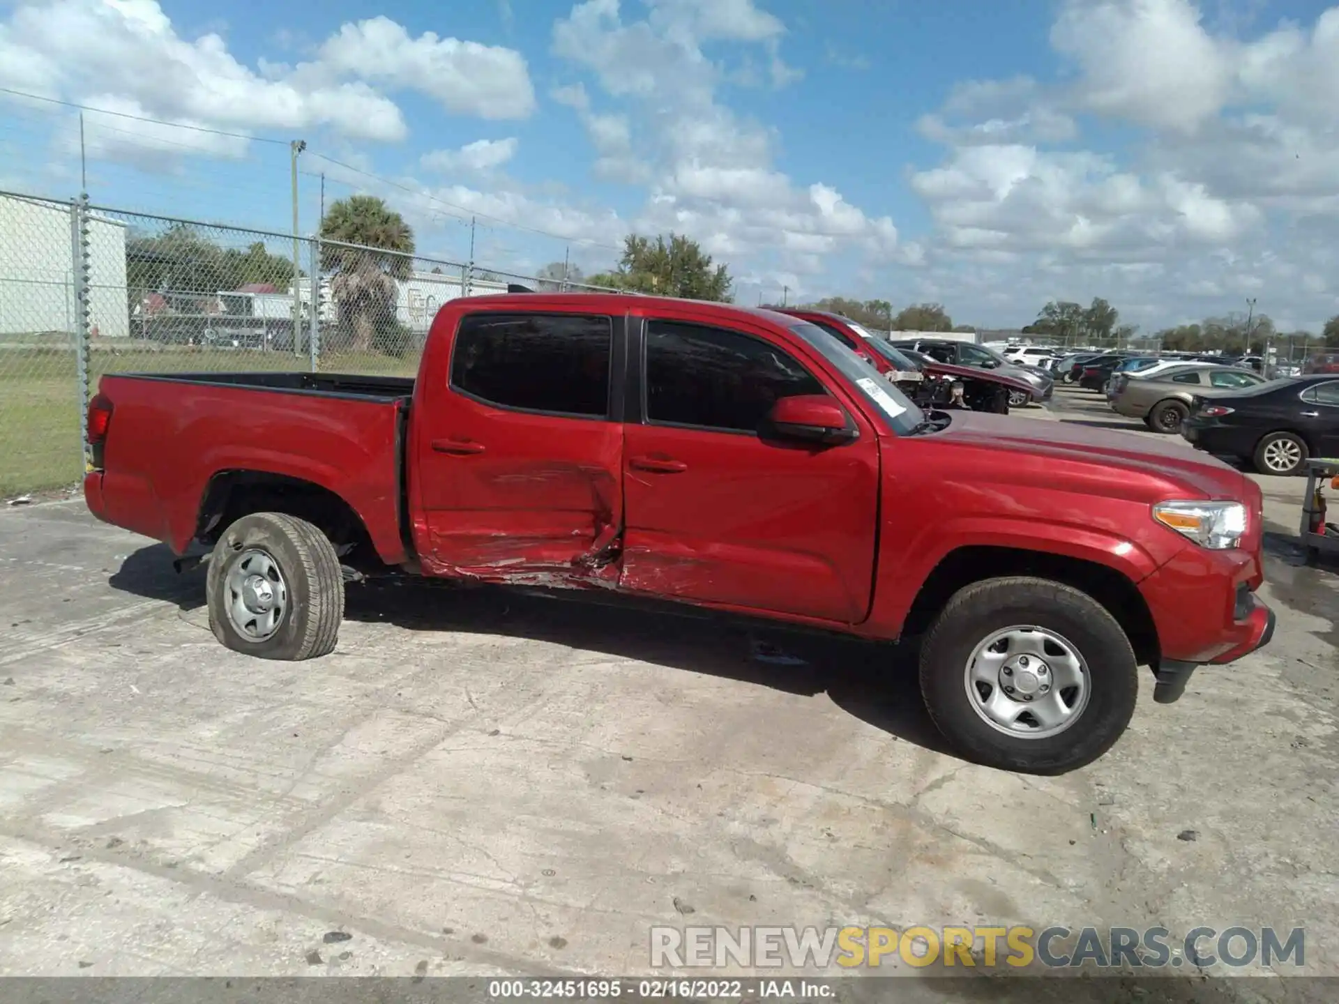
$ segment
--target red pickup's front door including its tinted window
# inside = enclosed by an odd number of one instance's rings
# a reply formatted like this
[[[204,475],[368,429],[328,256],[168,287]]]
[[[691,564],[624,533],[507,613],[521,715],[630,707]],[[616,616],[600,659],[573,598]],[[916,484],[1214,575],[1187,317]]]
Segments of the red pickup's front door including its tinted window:
[[[766,328],[632,320],[621,585],[660,596],[858,622],[878,522],[878,444],[779,442],[778,398],[830,392]],[[761,432],[762,430],[762,432]]]

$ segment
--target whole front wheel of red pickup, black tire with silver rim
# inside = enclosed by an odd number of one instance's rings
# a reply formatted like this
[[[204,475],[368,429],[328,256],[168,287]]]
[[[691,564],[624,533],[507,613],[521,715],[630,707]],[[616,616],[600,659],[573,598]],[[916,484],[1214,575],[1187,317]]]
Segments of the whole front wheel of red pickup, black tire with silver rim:
[[[1044,645],[1043,633],[1048,636]],[[977,656],[977,649],[998,635],[1006,636],[1006,653],[1014,655]],[[1032,645],[1032,651],[1020,657],[1015,641]],[[1063,651],[1078,659],[1059,657],[1056,652]],[[1028,661],[1036,652],[1050,660],[1040,669]],[[988,695],[975,681],[969,689],[969,680],[996,667],[995,660],[1003,661],[991,679],[1012,679],[1019,689],[1031,687],[1035,703],[1024,704],[1018,692],[1006,696],[1007,684],[996,683]],[[1023,665],[1031,668],[1024,671]],[[1047,667],[1052,667],[1050,672]],[[1006,677],[1007,672],[1014,676]],[[1038,691],[1047,685],[1044,680],[1066,679],[1081,685],[1056,687],[1050,697]],[[1111,613],[1087,593],[1026,576],[973,582],[953,594],[921,645],[920,685],[935,726],[964,756],[987,767],[1047,775],[1082,767],[1110,750],[1134,715],[1139,689],[1134,649]],[[999,700],[996,707],[1018,714],[1023,728],[1007,731],[988,722],[984,708],[992,701],[984,700],[987,696]],[[1031,708],[1054,712],[1066,700],[1070,716],[1055,731],[1028,727],[1028,719],[1043,720]]]

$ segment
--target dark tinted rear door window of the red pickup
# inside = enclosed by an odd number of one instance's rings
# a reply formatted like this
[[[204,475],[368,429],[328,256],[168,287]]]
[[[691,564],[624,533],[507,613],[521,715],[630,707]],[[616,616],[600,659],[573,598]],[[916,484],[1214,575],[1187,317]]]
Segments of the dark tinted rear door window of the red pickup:
[[[451,352],[451,387],[503,408],[605,418],[612,343],[608,317],[466,315]]]

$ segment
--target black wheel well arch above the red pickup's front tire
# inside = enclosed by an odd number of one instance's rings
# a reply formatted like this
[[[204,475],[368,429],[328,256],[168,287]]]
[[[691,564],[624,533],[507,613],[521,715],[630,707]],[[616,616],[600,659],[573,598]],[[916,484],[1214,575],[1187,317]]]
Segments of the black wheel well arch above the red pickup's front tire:
[[[983,574],[984,572],[984,574]],[[1139,665],[1158,659],[1158,632],[1144,596],[1129,578],[1095,561],[1023,548],[959,548],[929,573],[907,614],[902,633],[924,635],[953,593],[983,578],[1035,576],[1063,582],[1102,604],[1130,639]]]

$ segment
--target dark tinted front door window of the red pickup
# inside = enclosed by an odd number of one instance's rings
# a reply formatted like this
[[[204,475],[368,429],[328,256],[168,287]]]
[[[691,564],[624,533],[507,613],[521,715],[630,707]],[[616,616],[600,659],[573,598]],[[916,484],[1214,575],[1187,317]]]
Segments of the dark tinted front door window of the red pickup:
[[[647,325],[647,420],[757,432],[781,398],[826,394],[782,349],[723,328]]]

